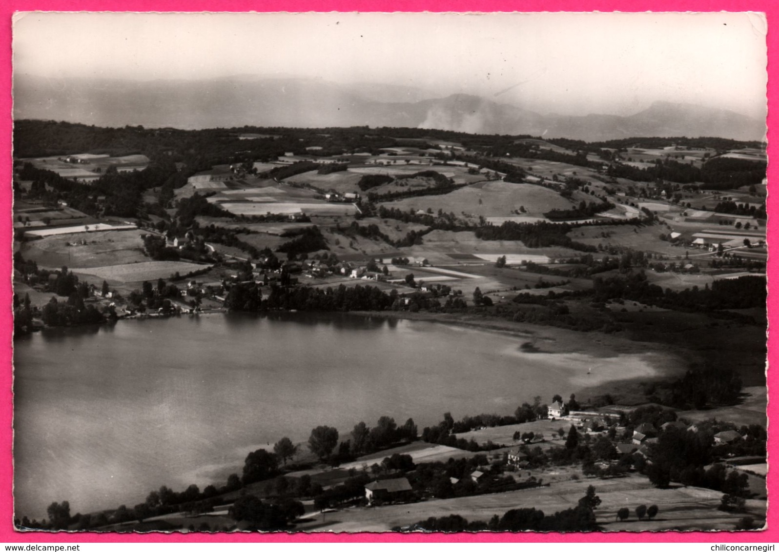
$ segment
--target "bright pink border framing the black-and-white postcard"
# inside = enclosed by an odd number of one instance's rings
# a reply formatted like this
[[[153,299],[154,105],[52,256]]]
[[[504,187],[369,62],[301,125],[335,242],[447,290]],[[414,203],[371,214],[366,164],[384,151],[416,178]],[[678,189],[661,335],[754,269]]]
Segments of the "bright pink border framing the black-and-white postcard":
[[[9,213],[11,210],[11,17],[16,11],[179,11],[179,12],[738,12],[753,11],[765,12],[767,14],[769,33],[767,37],[769,53],[769,76],[774,76],[777,72],[776,65],[772,63],[773,58],[779,55],[779,43],[777,43],[777,33],[774,33],[774,23],[779,19],[779,5],[770,0],[526,0],[525,2],[506,2],[506,0],[266,0],[251,2],[251,0],[10,0],[9,2],[0,2],[0,44],[3,49],[0,53],[0,113],[3,114],[0,119],[0,150],[5,154],[0,158],[0,174],[3,175],[2,181],[5,182],[5,189],[0,194],[0,212]],[[658,37],[658,40],[659,37]],[[777,72],[779,75],[779,72]],[[777,97],[777,88],[774,86],[774,80],[770,79],[768,84],[769,106],[773,107],[779,97]],[[769,110],[770,111],[770,110]],[[769,122],[770,122],[769,117]],[[769,159],[774,159],[774,135],[773,129],[769,129]],[[775,164],[770,163],[768,167],[769,181],[774,178],[779,179],[779,171]],[[777,212],[777,196],[770,194],[768,197],[768,211],[771,215]],[[773,216],[770,216],[769,231],[773,234],[775,227],[779,224],[774,223]],[[5,238],[5,244],[8,249],[0,260],[0,293],[6,297],[5,308],[0,310],[0,325],[6,328],[12,327],[12,311],[10,308],[10,297],[12,295],[10,276],[11,276],[11,248],[10,237],[12,235],[11,217],[0,217],[0,235]],[[768,271],[770,275],[779,268],[779,261],[774,255],[771,255],[768,262]],[[769,278],[769,280],[772,280]],[[779,307],[779,300],[774,294],[770,294],[769,311],[773,311],[774,304]],[[771,317],[777,318],[779,317]],[[771,320],[773,322],[773,320]],[[773,346],[776,338],[772,336],[769,341],[769,361],[779,360],[776,347]],[[0,346],[0,362],[2,366],[10,367],[12,359],[12,340],[10,332],[5,338],[5,343]],[[775,378],[769,374],[769,385]],[[777,542],[779,541],[779,516],[777,508],[771,507],[768,510],[768,529],[760,533],[642,533],[639,538],[631,533],[595,533],[595,534],[523,534],[521,536],[513,535],[492,535],[482,533],[478,535],[408,535],[400,536],[393,533],[355,533],[349,535],[257,535],[257,534],[234,534],[224,535],[206,535],[202,533],[193,535],[163,535],[153,533],[147,535],[105,535],[97,533],[78,533],[78,534],[41,534],[41,533],[16,533],[12,528],[12,371],[6,369],[0,371],[0,420],[2,420],[6,431],[0,432],[0,456],[2,456],[2,466],[0,466],[0,540],[7,543],[103,543],[103,542],[176,542],[176,543],[221,543],[221,542],[395,542],[402,540],[404,542]],[[777,406],[774,401],[768,405],[769,418],[779,416]],[[774,459],[775,454],[779,452],[776,438],[773,435],[773,424],[771,424],[770,439],[768,444],[770,459]],[[772,491],[776,485],[776,474],[771,471],[768,476],[769,490]],[[774,496],[771,495],[774,499]]]

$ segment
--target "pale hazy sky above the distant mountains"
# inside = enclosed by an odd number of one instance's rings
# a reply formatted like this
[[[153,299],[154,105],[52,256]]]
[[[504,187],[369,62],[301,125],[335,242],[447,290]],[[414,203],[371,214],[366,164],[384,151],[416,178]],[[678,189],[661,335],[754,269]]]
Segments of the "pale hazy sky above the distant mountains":
[[[632,114],[668,100],[762,117],[766,30],[762,16],[724,12],[31,12],[16,16],[13,45],[15,71],[41,76],[287,73],[560,114]]]

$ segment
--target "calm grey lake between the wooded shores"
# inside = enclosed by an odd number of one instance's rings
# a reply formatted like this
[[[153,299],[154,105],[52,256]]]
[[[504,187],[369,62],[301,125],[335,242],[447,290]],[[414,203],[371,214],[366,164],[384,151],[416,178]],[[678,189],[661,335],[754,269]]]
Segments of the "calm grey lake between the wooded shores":
[[[132,508],[150,490],[223,484],[245,455],[383,415],[420,432],[450,411],[513,413],[655,353],[523,353],[503,332],[355,315],[241,313],[50,329],[15,346],[16,516]],[[599,374],[587,375],[593,372]],[[626,369],[629,367],[629,369]]]

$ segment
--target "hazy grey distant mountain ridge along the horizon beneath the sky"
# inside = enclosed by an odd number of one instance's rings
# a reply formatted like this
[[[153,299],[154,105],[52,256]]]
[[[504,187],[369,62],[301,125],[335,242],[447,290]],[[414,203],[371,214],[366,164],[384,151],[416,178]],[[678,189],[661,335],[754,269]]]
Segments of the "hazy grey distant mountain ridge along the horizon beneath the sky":
[[[762,140],[764,121],[724,109],[658,101],[626,117],[538,114],[484,97],[413,86],[295,76],[197,81],[47,79],[15,76],[14,118],[86,125],[175,128],[394,126],[478,134],[529,134],[588,142],[632,136]]]

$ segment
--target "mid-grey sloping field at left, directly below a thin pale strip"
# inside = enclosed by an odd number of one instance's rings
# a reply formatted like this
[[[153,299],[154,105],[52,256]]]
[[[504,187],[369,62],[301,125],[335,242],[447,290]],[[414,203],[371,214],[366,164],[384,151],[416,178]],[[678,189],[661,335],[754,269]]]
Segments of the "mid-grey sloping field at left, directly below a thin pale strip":
[[[143,262],[148,258],[143,254],[141,234],[140,230],[121,230],[50,236],[23,242],[20,251],[24,258],[41,267],[57,269],[63,265],[79,269]]]

